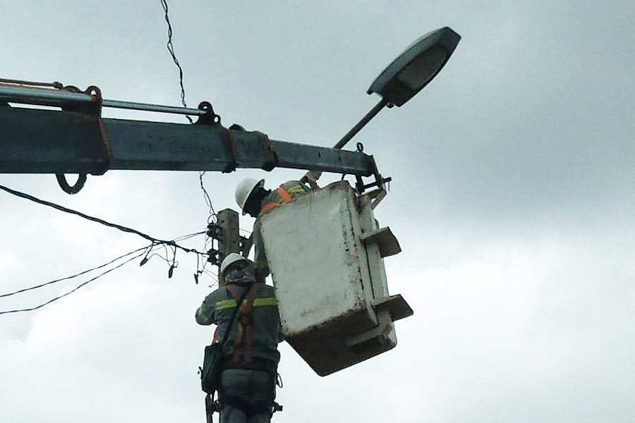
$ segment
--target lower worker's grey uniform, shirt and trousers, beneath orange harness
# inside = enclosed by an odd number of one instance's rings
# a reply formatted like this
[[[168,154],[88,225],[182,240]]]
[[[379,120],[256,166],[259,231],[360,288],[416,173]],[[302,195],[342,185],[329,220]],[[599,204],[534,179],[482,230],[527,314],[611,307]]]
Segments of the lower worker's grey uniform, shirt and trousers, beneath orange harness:
[[[234,285],[238,295],[246,289]],[[234,313],[236,300],[226,288],[219,288],[205,297],[196,310],[198,324],[217,324],[219,341],[225,336],[229,319]],[[251,362],[243,362],[244,343],[238,348],[241,357],[234,356],[234,338],[238,321],[234,321],[226,343],[223,345],[225,369],[221,374],[219,400],[222,403],[220,421],[222,423],[266,423],[270,421],[270,410],[275,398],[275,374],[280,360],[278,343],[282,341],[277,300],[272,286],[258,283],[251,312],[252,354]]]

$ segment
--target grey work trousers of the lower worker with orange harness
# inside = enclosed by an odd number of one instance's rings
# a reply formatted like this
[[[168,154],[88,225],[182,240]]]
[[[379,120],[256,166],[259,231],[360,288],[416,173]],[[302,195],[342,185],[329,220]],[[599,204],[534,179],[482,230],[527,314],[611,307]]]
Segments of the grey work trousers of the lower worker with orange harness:
[[[270,408],[252,412],[250,407],[271,404],[275,397],[272,376],[249,369],[226,369],[221,374],[220,423],[269,423]],[[261,407],[262,408],[262,407]]]

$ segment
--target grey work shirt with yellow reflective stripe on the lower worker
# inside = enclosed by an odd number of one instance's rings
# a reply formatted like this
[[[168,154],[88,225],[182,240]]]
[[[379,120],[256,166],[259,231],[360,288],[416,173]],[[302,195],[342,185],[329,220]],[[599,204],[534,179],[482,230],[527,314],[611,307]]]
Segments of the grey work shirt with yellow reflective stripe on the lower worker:
[[[238,295],[243,295],[248,287],[234,285]],[[243,300],[246,301],[246,300]],[[229,327],[231,315],[234,314],[236,300],[227,288],[222,287],[205,297],[202,305],[196,310],[196,322],[202,325],[217,324],[217,339],[221,342]],[[262,360],[270,360],[277,364],[280,361],[278,343],[282,341],[280,331],[280,317],[278,314],[278,302],[274,295],[274,288],[264,283],[258,283],[253,309],[251,312],[253,334],[253,357]],[[223,345],[225,356],[234,354],[234,338],[238,328],[238,314],[231,325],[231,332]],[[244,355],[244,345],[238,347],[238,353]]]

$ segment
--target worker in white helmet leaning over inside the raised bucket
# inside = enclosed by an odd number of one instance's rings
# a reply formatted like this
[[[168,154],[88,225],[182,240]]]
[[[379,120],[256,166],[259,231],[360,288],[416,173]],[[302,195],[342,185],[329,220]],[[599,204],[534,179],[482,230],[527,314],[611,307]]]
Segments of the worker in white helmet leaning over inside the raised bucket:
[[[288,180],[275,190],[265,188],[265,180],[243,179],[236,186],[236,203],[243,211],[243,216],[249,214],[252,217],[260,216],[260,213],[279,207],[282,204],[303,197],[311,190],[317,190],[316,180],[321,172],[309,171],[301,180]],[[310,185],[310,188],[305,185]],[[260,233],[260,222],[253,225],[254,265],[255,276],[258,281],[264,281],[270,274],[265,247]]]

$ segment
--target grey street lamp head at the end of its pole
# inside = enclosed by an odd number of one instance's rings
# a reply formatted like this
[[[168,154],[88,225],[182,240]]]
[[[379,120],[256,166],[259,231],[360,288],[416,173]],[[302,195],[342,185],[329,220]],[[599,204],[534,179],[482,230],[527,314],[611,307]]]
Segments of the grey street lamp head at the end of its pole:
[[[389,106],[401,106],[435,78],[460,39],[450,27],[416,39],[373,81],[368,94],[376,92]]]

